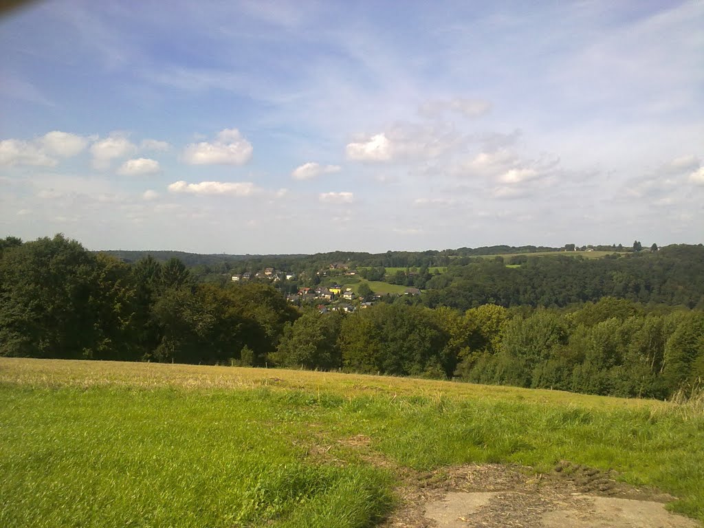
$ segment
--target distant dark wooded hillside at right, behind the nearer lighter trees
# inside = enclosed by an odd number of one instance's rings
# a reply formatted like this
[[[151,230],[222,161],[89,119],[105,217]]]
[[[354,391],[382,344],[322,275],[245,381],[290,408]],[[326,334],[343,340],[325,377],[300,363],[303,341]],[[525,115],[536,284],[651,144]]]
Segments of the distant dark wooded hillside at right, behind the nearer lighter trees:
[[[704,246],[584,259],[550,257],[465,259],[430,279],[427,306],[466,310],[501,306],[567,306],[603,296],[704,308]]]

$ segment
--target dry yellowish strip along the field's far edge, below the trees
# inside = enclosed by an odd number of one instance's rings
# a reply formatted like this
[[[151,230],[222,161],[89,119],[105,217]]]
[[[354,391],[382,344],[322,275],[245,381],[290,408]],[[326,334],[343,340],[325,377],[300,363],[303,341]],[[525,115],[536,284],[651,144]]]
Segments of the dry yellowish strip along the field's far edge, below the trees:
[[[0,383],[28,386],[125,386],[139,389],[179,387],[183,389],[239,389],[269,386],[282,389],[325,391],[346,397],[372,394],[427,396],[562,403],[588,408],[663,408],[655,400],[608,398],[543,389],[443,382],[401,378],[314,372],[308,370],[218,367],[118,361],[39,360],[0,358]]]

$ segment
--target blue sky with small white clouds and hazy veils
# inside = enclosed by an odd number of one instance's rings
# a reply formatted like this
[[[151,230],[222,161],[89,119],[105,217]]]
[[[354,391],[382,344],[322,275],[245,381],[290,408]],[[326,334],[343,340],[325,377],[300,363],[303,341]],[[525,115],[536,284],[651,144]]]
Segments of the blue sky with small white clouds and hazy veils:
[[[702,1],[36,1],[0,18],[0,237],[698,244],[703,28]]]

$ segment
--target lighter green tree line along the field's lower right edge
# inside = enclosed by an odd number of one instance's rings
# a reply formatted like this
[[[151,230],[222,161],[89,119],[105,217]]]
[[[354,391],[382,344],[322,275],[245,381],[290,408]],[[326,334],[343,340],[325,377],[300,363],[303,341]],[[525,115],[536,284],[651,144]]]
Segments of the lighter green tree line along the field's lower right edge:
[[[704,312],[616,298],[577,310],[465,312],[381,303],[310,311],[284,327],[279,365],[667,398],[704,377]]]

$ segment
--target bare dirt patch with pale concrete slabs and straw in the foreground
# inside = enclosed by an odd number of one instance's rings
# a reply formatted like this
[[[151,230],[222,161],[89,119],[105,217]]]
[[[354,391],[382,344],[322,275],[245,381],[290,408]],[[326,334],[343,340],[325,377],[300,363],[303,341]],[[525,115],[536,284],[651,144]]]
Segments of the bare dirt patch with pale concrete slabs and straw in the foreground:
[[[408,472],[385,528],[697,528],[665,510],[672,496],[562,462],[551,474],[498,464]],[[580,491],[581,489],[586,490]]]

